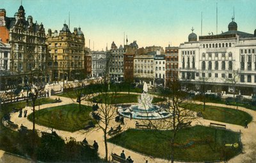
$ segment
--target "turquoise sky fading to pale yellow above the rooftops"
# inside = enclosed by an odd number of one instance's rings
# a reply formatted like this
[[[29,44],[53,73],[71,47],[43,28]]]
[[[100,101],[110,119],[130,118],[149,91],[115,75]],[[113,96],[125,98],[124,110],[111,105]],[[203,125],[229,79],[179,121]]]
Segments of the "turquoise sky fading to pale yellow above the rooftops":
[[[0,8],[13,17],[20,0],[0,0]],[[228,31],[235,11],[238,30],[253,33],[256,29],[255,0],[22,0],[22,6],[33,21],[43,23],[45,31],[68,24],[70,31],[81,27],[86,47],[108,49],[114,41],[119,47],[137,41],[139,47],[179,46],[188,41],[193,27],[197,36],[209,32],[216,35],[216,6],[218,6],[218,34]],[[94,46],[93,46],[94,45]],[[94,47],[94,49],[93,49]]]

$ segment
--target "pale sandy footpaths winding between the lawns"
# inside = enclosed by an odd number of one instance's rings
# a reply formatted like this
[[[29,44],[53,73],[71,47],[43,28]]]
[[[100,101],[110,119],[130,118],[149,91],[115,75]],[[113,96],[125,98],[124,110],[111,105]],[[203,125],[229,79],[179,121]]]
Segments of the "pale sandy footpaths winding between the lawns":
[[[131,94],[140,94],[140,93],[131,93]],[[52,99],[55,99],[57,96],[52,96]],[[57,97],[58,98],[58,97]],[[66,105],[66,104],[71,104],[74,103],[74,99],[70,99],[70,98],[65,98],[65,97],[60,97],[62,102],[61,103],[54,103],[54,104],[44,104],[44,105],[40,105],[40,109],[45,109],[48,107],[54,107],[57,105]],[[198,102],[200,103],[200,102]],[[92,103],[90,102],[81,102],[81,104],[84,105],[92,105]],[[220,107],[228,107],[230,109],[236,109],[236,107],[234,106],[230,106],[230,105],[224,105],[224,104],[213,104],[213,103],[206,103],[207,105],[216,105],[216,106],[220,106]],[[35,108],[36,110],[38,109],[38,107]],[[239,110],[241,111],[245,111],[248,114],[251,114],[253,117],[253,120],[251,123],[248,124],[248,128],[244,128],[241,127],[239,125],[232,125],[229,123],[221,123],[221,124],[225,124],[227,129],[236,131],[236,132],[241,132],[241,141],[243,143],[243,153],[237,155],[236,157],[234,157],[233,159],[230,159],[228,162],[234,162],[234,163],[240,163],[240,162],[256,162],[256,151],[255,151],[255,146],[256,146],[256,111],[252,111],[250,109],[245,109],[243,107],[238,107]],[[28,114],[32,113],[32,107],[28,108]],[[26,127],[28,127],[29,129],[33,128],[33,123],[31,121],[29,121],[27,118],[19,118],[19,113],[12,113],[11,114],[11,121],[13,121],[13,123],[17,124],[17,125],[24,125]],[[129,118],[125,118],[125,125],[122,126],[122,130],[127,130],[127,128],[134,128],[135,127],[135,123],[136,121],[140,120],[130,120]],[[210,120],[204,120],[204,119],[200,119],[197,121],[193,121],[193,123],[191,123],[191,125],[205,125],[205,126],[209,126],[209,123],[213,122],[213,123],[220,123],[218,121],[210,121]],[[118,123],[116,123],[115,121],[111,121],[110,123],[110,127],[115,127],[117,126]],[[51,129],[48,127],[44,127],[41,125],[35,125],[35,128],[37,130],[41,130],[44,132],[51,132]],[[97,141],[97,143],[99,144],[99,156],[104,158],[105,157],[105,148],[104,148],[104,137],[103,137],[103,132],[102,130],[100,130],[99,128],[94,128],[93,130],[90,130],[89,132],[85,132],[84,130],[79,130],[77,132],[67,132],[67,131],[62,131],[62,130],[54,130],[59,136],[65,138],[65,137],[74,137],[77,141],[83,141],[84,137],[86,137],[87,141],[89,144],[93,144],[93,141]],[[108,136],[109,138],[109,136]],[[128,149],[124,149],[121,146],[117,146],[115,144],[111,144],[108,143],[108,157],[110,160],[110,154],[111,153],[116,153],[118,155],[120,155],[120,153],[122,152],[122,150],[125,150],[125,155],[126,157],[128,157],[129,155],[131,156],[132,160],[134,160],[134,162],[145,162],[145,160],[148,160],[148,162],[159,162],[159,163],[165,163],[165,162],[170,162],[169,160],[163,160],[163,159],[158,159],[158,158],[153,158],[147,155],[143,155],[141,153],[137,153],[135,151],[132,150],[128,150]],[[2,158],[2,157],[1,157]]]

